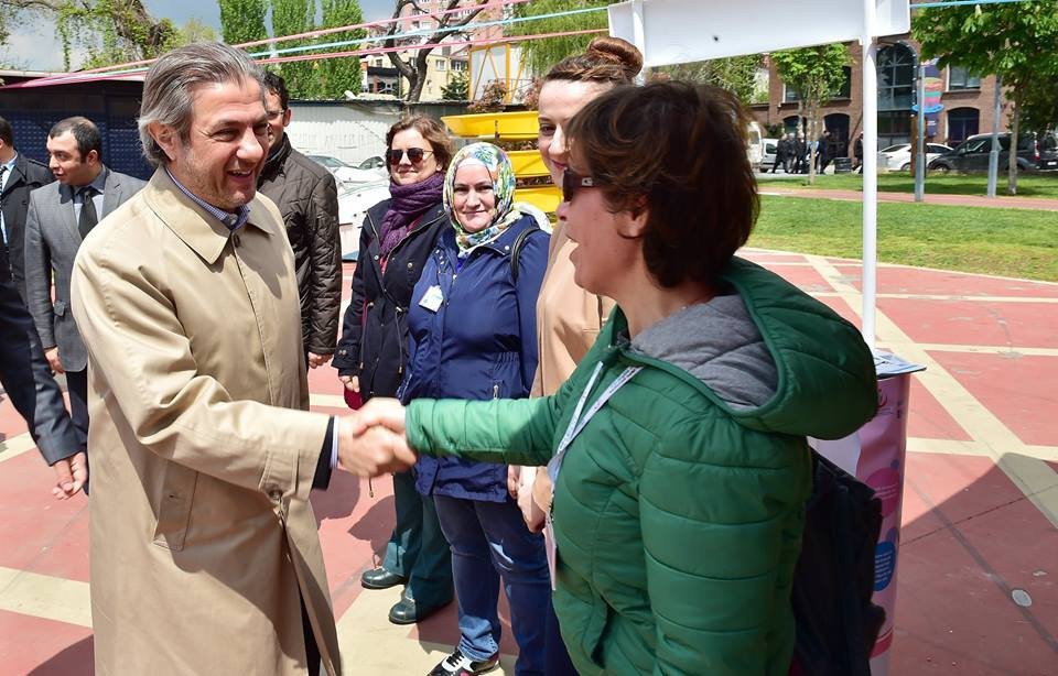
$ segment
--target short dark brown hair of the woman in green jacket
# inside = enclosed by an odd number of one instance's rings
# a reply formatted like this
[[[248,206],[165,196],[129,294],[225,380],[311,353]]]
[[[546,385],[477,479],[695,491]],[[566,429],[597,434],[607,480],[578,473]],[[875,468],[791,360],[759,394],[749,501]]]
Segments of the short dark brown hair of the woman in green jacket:
[[[617,87],[570,121],[573,161],[607,207],[647,208],[643,255],[662,286],[714,284],[749,238],[759,199],[748,123],[732,94],[679,81]]]

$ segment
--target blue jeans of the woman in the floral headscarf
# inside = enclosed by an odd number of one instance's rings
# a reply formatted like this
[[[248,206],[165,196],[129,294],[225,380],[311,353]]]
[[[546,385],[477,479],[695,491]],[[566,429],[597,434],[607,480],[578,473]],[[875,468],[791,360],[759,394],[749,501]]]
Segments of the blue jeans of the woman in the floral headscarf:
[[[471,659],[487,659],[499,651],[501,626],[496,606],[501,576],[518,643],[515,674],[542,675],[551,595],[543,537],[529,532],[511,500],[433,499],[441,530],[452,547],[460,650]]]

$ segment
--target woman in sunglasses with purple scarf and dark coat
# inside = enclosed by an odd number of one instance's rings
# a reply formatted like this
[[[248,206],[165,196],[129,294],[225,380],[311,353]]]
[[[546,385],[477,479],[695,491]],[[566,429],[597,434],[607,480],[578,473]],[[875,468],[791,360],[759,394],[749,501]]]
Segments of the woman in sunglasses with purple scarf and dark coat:
[[[333,366],[350,405],[395,396],[404,375],[411,291],[449,225],[442,206],[444,171],[452,145],[441,122],[412,116],[386,134],[390,199],[367,211],[353,273],[353,299],[345,310]],[[367,570],[368,589],[406,585],[390,609],[395,624],[418,622],[452,601],[449,543],[433,500],[415,490],[411,472],[393,475],[397,522],[381,566]]]

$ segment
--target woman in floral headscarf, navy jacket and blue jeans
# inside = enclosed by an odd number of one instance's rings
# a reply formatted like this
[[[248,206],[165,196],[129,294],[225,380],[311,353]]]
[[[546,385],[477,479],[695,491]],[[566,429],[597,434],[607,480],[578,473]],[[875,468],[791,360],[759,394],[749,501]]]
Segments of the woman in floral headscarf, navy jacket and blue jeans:
[[[408,377],[400,397],[528,396],[537,368],[536,303],[548,235],[514,205],[506,153],[473,143],[452,159],[444,206],[451,228],[438,239],[412,294]],[[452,548],[460,644],[431,676],[479,674],[498,662],[499,582],[519,647],[516,673],[543,674],[548,567],[507,492],[507,467],[422,458],[415,486],[436,504]]]

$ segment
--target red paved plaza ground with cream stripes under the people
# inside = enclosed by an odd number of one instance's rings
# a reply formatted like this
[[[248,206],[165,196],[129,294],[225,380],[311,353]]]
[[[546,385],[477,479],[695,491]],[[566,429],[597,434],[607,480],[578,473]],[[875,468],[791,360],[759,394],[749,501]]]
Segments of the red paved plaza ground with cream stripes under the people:
[[[859,320],[859,262],[745,253]],[[911,384],[889,674],[1058,674],[1058,284],[882,265],[877,325],[881,347],[928,367]],[[315,408],[344,408],[333,370],[311,386]],[[7,401],[0,432],[0,676],[91,674],[87,500],[52,500]],[[454,607],[398,628],[397,592],[358,584],[391,495],[338,472],[313,499],[348,674],[425,674],[457,640]],[[501,650],[514,674],[509,631]]]

